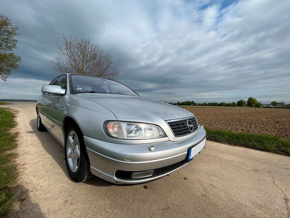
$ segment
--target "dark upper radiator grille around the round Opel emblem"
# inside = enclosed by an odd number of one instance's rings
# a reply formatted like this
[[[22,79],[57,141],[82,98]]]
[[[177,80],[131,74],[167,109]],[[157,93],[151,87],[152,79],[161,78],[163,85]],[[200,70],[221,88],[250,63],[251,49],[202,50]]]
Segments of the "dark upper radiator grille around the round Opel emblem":
[[[189,127],[187,126],[188,120],[190,120],[193,124],[193,131],[190,131]],[[188,135],[198,129],[198,123],[195,117],[178,119],[178,120],[173,120],[173,121],[169,120],[166,122],[170,126],[175,136]]]

